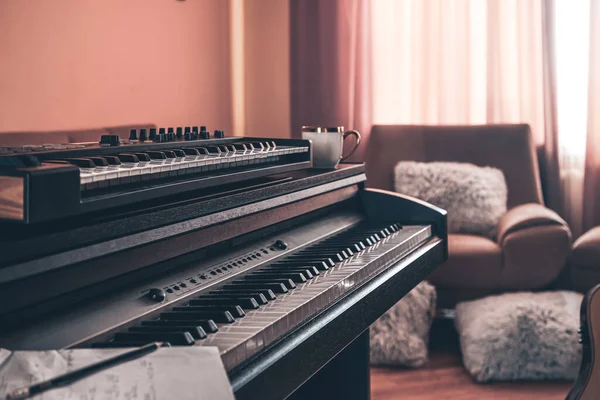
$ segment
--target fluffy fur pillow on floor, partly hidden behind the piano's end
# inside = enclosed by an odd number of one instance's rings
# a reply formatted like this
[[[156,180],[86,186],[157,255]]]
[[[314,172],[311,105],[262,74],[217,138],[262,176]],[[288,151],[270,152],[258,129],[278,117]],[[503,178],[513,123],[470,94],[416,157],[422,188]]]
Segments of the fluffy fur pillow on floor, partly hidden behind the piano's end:
[[[435,288],[421,282],[371,325],[371,364],[420,367],[427,361]]]

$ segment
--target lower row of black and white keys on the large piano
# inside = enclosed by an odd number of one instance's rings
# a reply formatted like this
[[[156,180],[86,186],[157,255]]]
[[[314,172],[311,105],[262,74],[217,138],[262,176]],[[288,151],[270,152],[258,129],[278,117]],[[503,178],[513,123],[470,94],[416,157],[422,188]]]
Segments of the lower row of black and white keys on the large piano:
[[[158,319],[143,320],[92,346],[152,341],[217,346],[231,369],[431,236],[430,226],[362,222],[282,261],[197,292],[186,305],[163,310]]]

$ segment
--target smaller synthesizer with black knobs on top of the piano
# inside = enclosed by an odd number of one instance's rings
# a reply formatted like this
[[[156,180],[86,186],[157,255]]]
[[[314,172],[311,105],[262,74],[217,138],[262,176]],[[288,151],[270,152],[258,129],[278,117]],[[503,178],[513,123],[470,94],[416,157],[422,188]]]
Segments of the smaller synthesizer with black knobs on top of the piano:
[[[147,132],[149,131],[149,132]],[[0,148],[0,221],[35,224],[102,213],[127,204],[173,201],[312,166],[310,142],[224,137],[205,127],[158,133],[132,129],[129,139]]]

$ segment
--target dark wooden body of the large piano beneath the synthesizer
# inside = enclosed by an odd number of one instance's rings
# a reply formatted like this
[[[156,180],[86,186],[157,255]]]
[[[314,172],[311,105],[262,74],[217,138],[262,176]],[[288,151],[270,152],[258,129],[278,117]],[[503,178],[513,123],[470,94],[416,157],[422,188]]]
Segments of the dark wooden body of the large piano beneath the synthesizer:
[[[131,204],[110,215],[66,219],[59,225],[4,228],[0,347],[87,347],[110,341],[115,331],[142,316],[182,305],[184,298],[207,293],[210,285],[219,287],[286,254],[293,256],[308,242],[292,240],[281,254],[269,251],[266,259],[248,258],[247,266],[224,268],[223,276],[209,275],[212,283],[192,287],[185,281],[185,295],[168,293],[160,304],[148,301],[144,288],[170,288],[163,283],[187,271],[212,273],[214,267],[207,269],[211,263],[265,240],[289,238],[296,230],[343,232],[351,226],[347,221],[355,220],[427,226],[428,237],[402,257],[382,261],[373,255],[377,267],[366,278],[346,280],[350,284],[326,306],[276,333],[260,351],[226,362],[238,399],[368,398],[368,327],[446,260],[447,236],[443,210],[366,189],[365,180],[362,164],[343,164],[332,171],[296,171],[155,200],[143,208]],[[347,226],[336,226],[336,221]],[[399,235],[388,233],[381,249]],[[360,253],[350,259],[360,259]],[[129,293],[135,296],[129,298]],[[115,316],[121,305],[122,321]]]

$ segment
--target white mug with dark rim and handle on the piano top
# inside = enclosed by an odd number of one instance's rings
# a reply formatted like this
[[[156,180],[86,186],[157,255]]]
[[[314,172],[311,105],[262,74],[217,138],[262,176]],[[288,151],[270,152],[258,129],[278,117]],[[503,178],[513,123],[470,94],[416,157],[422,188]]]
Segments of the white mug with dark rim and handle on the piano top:
[[[344,157],[344,139],[348,136],[356,137],[356,143],[350,154]],[[343,126],[303,126],[302,139],[312,141],[314,168],[335,168],[340,161],[354,154],[360,145],[360,133],[344,131]]]

